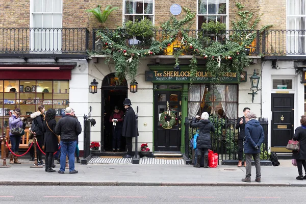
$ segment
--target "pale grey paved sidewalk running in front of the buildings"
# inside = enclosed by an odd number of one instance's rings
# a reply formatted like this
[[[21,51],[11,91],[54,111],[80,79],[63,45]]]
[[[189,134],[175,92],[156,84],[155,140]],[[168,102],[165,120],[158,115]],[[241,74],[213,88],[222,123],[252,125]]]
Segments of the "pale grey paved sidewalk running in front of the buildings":
[[[3,160],[2,160],[3,161]],[[2,165],[1,161],[1,165]],[[193,168],[191,165],[133,165],[75,163],[78,174],[48,173],[43,168],[30,168],[33,162],[21,159],[22,164],[0,168],[0,185],[54,185],[54,186],[306,186],[298,181],[297,167],[291,160],[279,160],[280,166],[262,166],[262,182],[255,180],[252,167],[251,183],[243,183],[245,168],[218,166],[217,168]],[[55,170],[59,170],[56,164]]]

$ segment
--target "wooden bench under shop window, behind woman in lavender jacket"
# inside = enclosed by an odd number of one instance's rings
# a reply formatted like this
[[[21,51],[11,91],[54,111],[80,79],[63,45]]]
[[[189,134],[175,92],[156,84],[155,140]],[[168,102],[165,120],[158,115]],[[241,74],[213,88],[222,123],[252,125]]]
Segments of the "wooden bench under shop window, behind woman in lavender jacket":
[[[27,151],[27,149],[29,149],[29,133],[30,133],[29,129],[24,130],[24,135],[22,135],[21,139],[20,139],[19,149],[24,149],[25,151]],[[9,134],[10,134],[10,127],[7,127],[7,129],[6,129],[6,139],[9,143],[9,147],[11,148],[12,145],[11,145],[11,140],[10,140]],[[6,158],[8,158],[9,148],[6,144],[4,144],[3,138],[1,138],[1,158],[2,159],[5,156],[4,154],[6,155]]]

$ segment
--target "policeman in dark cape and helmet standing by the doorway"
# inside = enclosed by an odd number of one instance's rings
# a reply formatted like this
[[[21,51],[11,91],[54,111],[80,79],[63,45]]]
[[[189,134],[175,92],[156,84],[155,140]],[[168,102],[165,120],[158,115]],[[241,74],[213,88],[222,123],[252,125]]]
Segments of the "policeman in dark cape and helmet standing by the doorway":
[[[136,115],[131,107],[131,100],[126,98],[123,101],[124,108],[126,109],[124,117],[123,117],[123,125],[122,125],[122,136],[125,137],[127,153],[123,158],[131,158],[132,157],[132,138],[136,137],[136,132],[138,136],[138,130],[135,129],[136,124]]]

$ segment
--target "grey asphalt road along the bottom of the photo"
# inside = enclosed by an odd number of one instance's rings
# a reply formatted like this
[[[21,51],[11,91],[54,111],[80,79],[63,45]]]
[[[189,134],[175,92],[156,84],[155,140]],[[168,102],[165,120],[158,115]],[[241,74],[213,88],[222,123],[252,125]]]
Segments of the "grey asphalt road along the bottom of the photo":
[[[306,182],[306,181],[305,181]],[[305,203],[306,187],[1,186],[1,203]]]

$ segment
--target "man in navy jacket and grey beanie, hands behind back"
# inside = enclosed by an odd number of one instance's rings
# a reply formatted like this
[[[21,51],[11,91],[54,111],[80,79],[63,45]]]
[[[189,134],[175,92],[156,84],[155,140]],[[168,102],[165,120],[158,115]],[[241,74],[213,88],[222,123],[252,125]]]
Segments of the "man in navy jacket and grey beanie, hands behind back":
[[[242,182],[251,182],[252,171],[252,157],[256,167],[256,182],[261,182],[261,168],[260,168],[260,146],[264,142],[265,134],[264,129],[256,119],[256,114],[247,113],[245,120],[245,142],[244,142],[244,154],[246,160],[246,175],[242,179]]]

